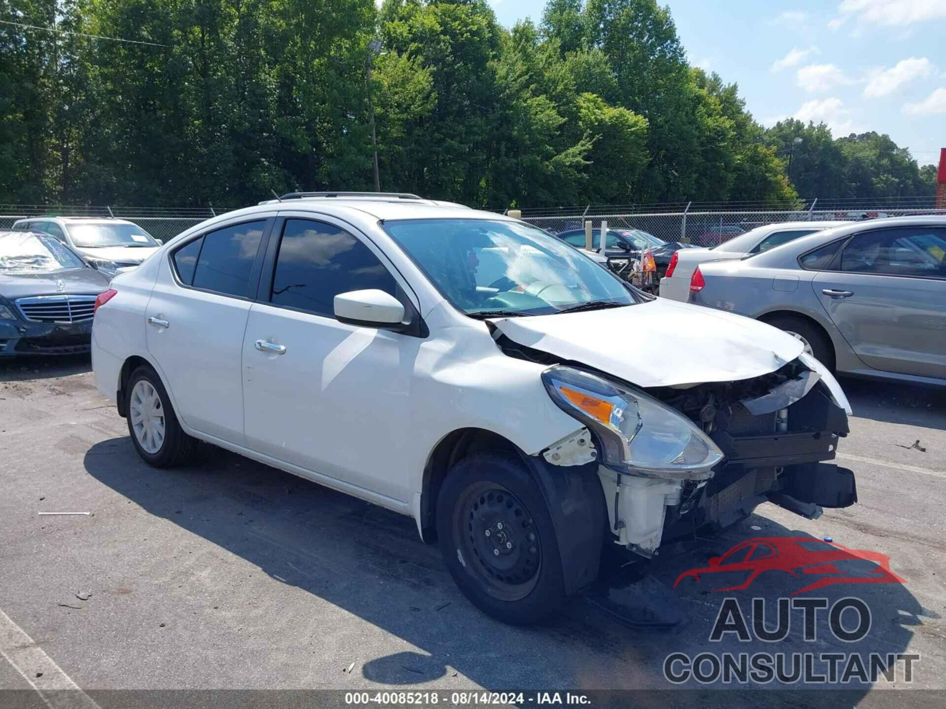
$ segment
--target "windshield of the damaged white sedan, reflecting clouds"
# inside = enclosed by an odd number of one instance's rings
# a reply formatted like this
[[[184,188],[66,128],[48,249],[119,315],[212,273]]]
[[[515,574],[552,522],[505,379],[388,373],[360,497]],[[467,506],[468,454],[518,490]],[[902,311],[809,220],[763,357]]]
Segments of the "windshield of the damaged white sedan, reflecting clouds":
[[[609,270],[527,224],[405,219],[384,228],[467,315],[546,315],[587,303],[639,302]]]

